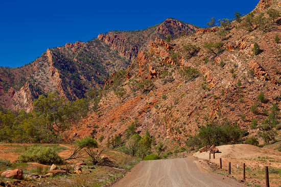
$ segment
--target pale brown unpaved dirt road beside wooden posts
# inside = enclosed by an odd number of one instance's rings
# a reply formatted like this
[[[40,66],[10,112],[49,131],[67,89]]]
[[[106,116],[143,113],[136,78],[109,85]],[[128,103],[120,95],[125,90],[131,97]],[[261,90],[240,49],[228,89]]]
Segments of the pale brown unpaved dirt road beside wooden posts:
[[[142,161],[112,187],[246,186],[223,175],[210,173],[194,158]]]

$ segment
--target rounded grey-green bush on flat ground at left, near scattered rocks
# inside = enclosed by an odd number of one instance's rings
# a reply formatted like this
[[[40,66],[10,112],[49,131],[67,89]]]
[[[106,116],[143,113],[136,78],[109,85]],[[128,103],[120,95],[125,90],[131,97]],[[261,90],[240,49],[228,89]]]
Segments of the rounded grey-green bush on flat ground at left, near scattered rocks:
[[[61,164],[62,158],[52,147],[32,146],[18,156],[20,162],[37,162],[40,164]]]

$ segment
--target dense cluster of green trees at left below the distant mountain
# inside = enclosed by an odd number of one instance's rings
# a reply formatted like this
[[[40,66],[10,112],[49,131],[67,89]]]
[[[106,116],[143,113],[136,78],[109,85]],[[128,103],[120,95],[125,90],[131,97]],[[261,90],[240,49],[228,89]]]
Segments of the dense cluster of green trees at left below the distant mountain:
[[[66,101],[56,93],[40,95],[34,100],[32,113],[0,112],[0,142],[9,143],[56,143],[62,133],[88,112],[87,99]]]

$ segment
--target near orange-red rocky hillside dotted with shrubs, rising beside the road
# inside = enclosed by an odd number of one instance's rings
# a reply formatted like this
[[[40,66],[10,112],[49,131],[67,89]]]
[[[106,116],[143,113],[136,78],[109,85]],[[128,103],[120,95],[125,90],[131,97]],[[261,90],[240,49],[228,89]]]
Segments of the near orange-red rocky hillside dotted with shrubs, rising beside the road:
[[[114,136],[125,139],[134,122],[140,135],[149,130],[158,140],[182,144],[212,121],[237,123],[252,131],[252,119],[262,124],[281,97],[281,46],[274,41],[276,35],[281,37],[281,26],[267,19],[269,8],[280,12],[278,2],[262,0],[253,12],[250,29],[244,17],[227,29],[200,29],[171,42],[154,38],[126,72],[107,80],[109,89],[103,92],[100,109],[69,134],[85,137],[95,129],[97,138],[106,137],[102,141],[106,144]],[[266,23],[254,21],[261,12]],[[255,43],[261,48],[258,52]],[[114,76],[122,80],[117,87]],[[118,89],[124,89],[123,94]],[[261,92],[263,101],[258,99]]]

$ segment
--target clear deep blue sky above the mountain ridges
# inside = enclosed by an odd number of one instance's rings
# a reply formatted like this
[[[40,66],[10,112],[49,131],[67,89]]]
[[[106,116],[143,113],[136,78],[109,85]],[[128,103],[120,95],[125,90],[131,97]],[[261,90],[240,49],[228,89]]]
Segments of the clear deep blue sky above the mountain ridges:
[[[168,17],[201,27],[211,17],[247,14],[259,0],[1,1],[0,66],[28,64],[48,48],[88,41],[111,30],[141,30]]]

